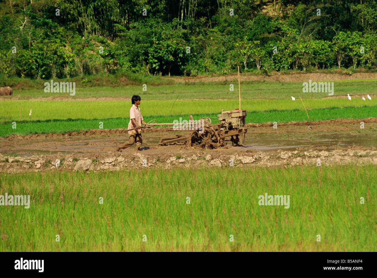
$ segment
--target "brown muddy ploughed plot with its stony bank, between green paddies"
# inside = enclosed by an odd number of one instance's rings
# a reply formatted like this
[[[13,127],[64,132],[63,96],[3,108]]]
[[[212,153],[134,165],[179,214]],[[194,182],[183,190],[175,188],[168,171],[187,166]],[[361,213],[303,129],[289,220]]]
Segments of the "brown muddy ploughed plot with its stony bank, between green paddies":
[[[360,130],[361,121],[365,122],[363,131]],[[308,125],[311,128],[308,128]],[[278,124],[277,129],[273,129],[271,123],[248,124],[247,136],[250,137],[251,142],[259,139],[259,136],[265,136],[263,138],[273,138],[270,140],[271,144],[276,144],[274,138],[280,140],[283,137],[285,138],[287,134],[291,134],[291,140],[297,141],[296,137],[305,137],[309,142],[313,142],[313,144],[309,143],[306,146],[296,144],[297,147],[293,150],[276,148],[268,151],[255,150],[247,146],[227,146],[215,150],[187,149],[184,142],[159,146],[157,143],[160,137],[172,136],[175,133],[161,130],[145,130],[143,147],[139,152],[134,151],[133,147],[123,150],[123,152],[116,151],[119,144],[128,140],[125,129],[9,136],[3,139],[2,154],[18,153],[23,156],[24,154],[35,153],[35,155],[14,157],[0,154],[0,173],[64,170],[118,171],[149,168],[171,169],[175,167],[330,166],[345,163],[373,163],[377,165],[377,143],[374,145],[369,142],[372,138],[375,138],[374,130],[377,129],[376,127],[377,118],[290,122]],[[187,135],[190,132],[185,131]],[[363,132],[366,132],[365,136],[363,136]],[[179,133],[184,132],[179,131]],[[329,144],[325,144],[321,140],[316,140],[316,137],[322,133],[330,135],[338,133],[341,135],[339,139],[332,139]],[[113,134],[121,135],[112,136]],[[98,135],[103,136],[99,138]],[[363,140],[365,137],[371,139],[367,140],[368,142],[365,141],[366,145],[363,145],[363,143],[358,145],[352,145],[353,143],[350,145],[340,144],[340,141],[347,140],[346,138],[342,139],[347,136],[354,136],[352,138],[355,140]],[[313,141],[309,138],[312,138]],[[333,138],[332,135],[331,138]],[[287,142],[287,144],[291,144],[291,142]],[[60,160],[59,166],[55,166],[57,159]]]

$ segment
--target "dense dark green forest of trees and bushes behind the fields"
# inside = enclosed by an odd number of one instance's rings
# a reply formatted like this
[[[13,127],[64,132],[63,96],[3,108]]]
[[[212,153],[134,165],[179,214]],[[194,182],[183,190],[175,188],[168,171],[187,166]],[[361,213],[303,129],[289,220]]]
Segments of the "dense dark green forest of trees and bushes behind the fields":
[[[375,69],[376,22],[376,0],[2,0],[0,74]]]

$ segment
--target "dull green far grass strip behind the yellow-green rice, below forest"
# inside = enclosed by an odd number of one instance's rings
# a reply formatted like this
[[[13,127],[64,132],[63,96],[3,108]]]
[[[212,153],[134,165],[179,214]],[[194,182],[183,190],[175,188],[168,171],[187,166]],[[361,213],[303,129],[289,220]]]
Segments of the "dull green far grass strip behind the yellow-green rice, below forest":
[[[309,82],[309,80],[305,80]],[[312,80],[315,82],[316,80]],[[334,81],[334,95],[346,96],[354,95],[371,95],[376,92],[377,79],[360,79],[360,80],[338,80]],[[185,82],[171,85],[149,85],[148,81],[141,81],[141,84],[147,85],[147,91],[143,91],[142,85],[124,86],[124,87],[76,87],[75,96],[69,96],[69,93],[63,92],[44,92],[44,86],[39,90],[15,90],[14,96],[22,99],[29,98],[48,98],[50,96],[64,96],[67,98],[89,98],[89,97],[124,97],[131,98],[132,95],[140,95],[144,100],[174,100],[179,95],[180,99],[238,99],[238,82],[221,81],[210,83]],[[321,82],[320,80],[318,82]],[[325,82],[325,81],[324,81]],[[330,82],[330,81],[326,81]],[[234,85],[234,91],[231,92],[230,84]],[[311,98],[311,93],[302,93],[302,82],[271,82],[271,81],[242,81],[241,96],[242,99],[248,98],[275,98],[288,99],[291,96],[297,97],[296,90],[302,98]],[[314,93],[313,98],[323,98],[328,96],[327,93]],[[10,98],[10,97],[6,97]]]

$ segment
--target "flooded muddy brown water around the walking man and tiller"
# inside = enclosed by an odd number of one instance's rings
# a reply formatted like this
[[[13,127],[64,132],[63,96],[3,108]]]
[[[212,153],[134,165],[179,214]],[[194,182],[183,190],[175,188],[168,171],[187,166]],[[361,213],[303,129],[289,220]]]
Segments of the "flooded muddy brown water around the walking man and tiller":
[[[363,147],[377,146],[377,133],[363,134],[263,134],[254,136],[247,134],[245,144],[242,147],[234,147],[234,150],[254,149],[259,151],[287,150],[316,148],[317,150],[334,150],[337,147],[348,147],[352,145]],[[163,134],[162,137],[169,137],[172,134]],[[163,152],[164,146],[158,147],[161,134],[144,134],[143,150],[154,149]],[[30,157],[41,154],[83,154],[83,153],[107,153],[114,151],[116,147],[128,141],[128,137],[101,137],[101,136],[75,136],[75,137],[53,137],[51,139],[33,138],[28,140],[0,141],[0,153],[3,155],[15,155]],[[182,143],[178,143],[182,144]],[[230,142],[227,142],[230,145]],[[130,147],[133,149],[133,147]]]

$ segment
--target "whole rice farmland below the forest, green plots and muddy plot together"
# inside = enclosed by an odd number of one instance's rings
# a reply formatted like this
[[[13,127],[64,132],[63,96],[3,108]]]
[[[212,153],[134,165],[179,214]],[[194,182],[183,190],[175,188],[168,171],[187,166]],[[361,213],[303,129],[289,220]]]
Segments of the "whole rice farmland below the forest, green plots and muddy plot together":
[[[302,82],[242,81],[244,145],[159,146],[175,136],[162,130],[140,152],[116,150],[132,95],[144,121],[168,123],[238,108],[238,83],[14,90],[0,98],[0,251],[375,252],[376,81],[334,80],[313,98]]]

